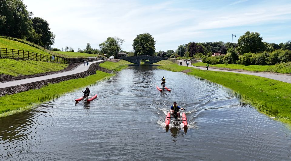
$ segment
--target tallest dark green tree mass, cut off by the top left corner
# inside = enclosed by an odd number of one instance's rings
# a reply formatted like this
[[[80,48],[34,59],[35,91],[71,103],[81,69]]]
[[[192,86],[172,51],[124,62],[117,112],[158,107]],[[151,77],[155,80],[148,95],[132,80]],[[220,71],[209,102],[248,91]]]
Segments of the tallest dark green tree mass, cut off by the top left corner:
[[[0,34],[28,38],[33,31],[30,16],[21,0],[0,0]]]

